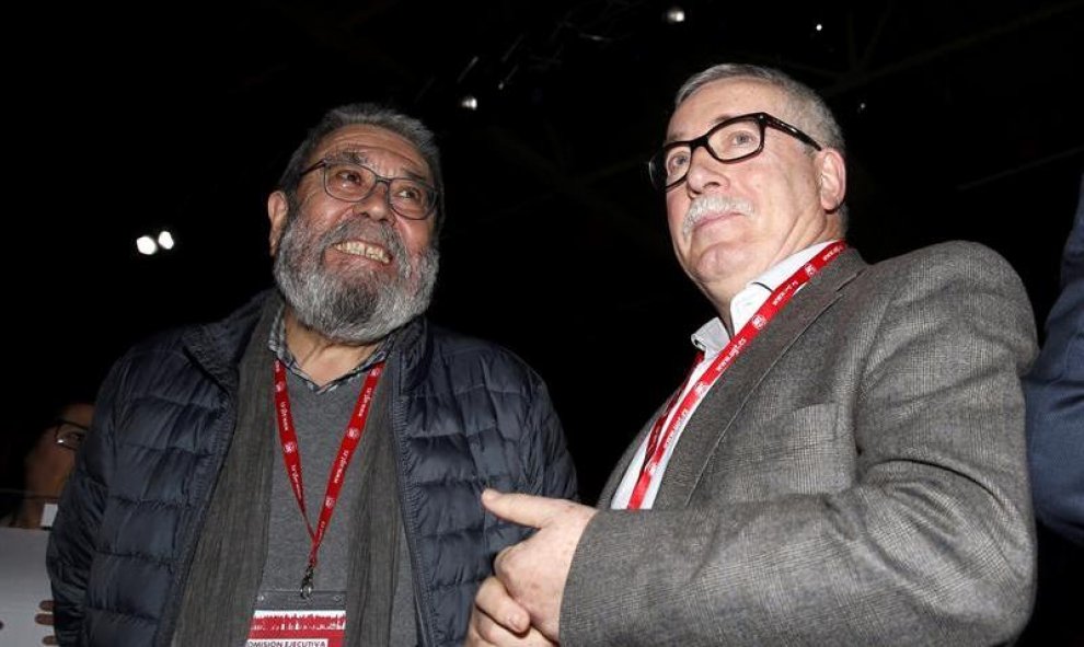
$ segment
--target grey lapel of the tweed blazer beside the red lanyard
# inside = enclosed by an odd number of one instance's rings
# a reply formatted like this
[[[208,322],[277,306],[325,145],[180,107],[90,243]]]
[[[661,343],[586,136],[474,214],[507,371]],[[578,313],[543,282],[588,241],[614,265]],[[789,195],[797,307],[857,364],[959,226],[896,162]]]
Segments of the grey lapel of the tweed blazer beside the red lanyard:
[[[839,299],[840,289],[864,267],[856,251],[844,252],[810,279],[730,365],[689,419],[667,464],[653,508],[673,509],[689,504],[723,436],[749,395],[786,349]]]

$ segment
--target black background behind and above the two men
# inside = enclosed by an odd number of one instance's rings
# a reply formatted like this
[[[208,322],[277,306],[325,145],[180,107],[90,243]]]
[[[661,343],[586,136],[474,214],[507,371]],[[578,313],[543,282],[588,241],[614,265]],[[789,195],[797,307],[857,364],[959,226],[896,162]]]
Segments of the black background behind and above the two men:
[[[687,22],[662,20],[671,5]],[[589,501],[711,315],[644,165],[687,76],[737,60],[820,90],[847,136],[849,239],[866,259],[985,243],[1040,324],[1084,169],[1079,1],[8,12],[30,43],[9,46],[5,74],[9,438],[57,393],[92,392],[135,340],[269,285],[266,195],[339,103],[392,102],[437,131],[449,216],[431,317],[546,379]],[[135,239],[162,228],[174,252],[139,256]]]

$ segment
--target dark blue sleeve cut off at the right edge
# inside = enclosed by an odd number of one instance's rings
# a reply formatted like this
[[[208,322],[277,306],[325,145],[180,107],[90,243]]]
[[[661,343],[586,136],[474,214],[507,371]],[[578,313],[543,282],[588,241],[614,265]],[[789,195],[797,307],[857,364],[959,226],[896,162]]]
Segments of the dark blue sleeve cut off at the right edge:
[[[1084,545],[1084,180],[1046,334],[1024,383],[1035,511]]]

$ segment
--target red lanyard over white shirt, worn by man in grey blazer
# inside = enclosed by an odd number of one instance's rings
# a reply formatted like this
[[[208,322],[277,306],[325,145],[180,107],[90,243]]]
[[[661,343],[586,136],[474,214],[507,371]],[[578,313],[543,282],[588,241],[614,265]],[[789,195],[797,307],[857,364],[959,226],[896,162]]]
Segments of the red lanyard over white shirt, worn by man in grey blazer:
[[[644,497],[647,495],[647,490],[651,485],[651,478],[654,478],[655,472],[661,464],[670,443],[673,442],[674,431],[684,427],[685,421],[696,411],[700,402],[707,394],[712,385],[715,384],[716,380],[719,379],[719,376],[730,368],[734,360],[760,334],[760,331],[768,325],[768,322],[772,321],[775,313],[787,304],[798,288],[805,285],[812,275],[828,265],[830,261],[839,256],[844,249],[846,249],[846,243],[843,241],[829,245],[809,261],[809,263],[799,267],[797,271],[791,275],[791,278],[783,281],[783,285],[772,292],[772,296],[768,298],[768,301],[764,301],[764,304],[760,307],[760,310],[757,311],[752,319],[746,325],[741,326],[738,334],[731,337],[726,347],[712,360],[707,370],[696,380],[696,384],[681,398],[681,404],[678,406],[677,413],[671,416],[670,414],[673,412],[678,396],[684,392],[689,381],[692,380],[696,366],[703,360],[703,354],[696,355],[696,361],[693,362],[693,368],[689,377],[681,384],[681,389],[670,397],[670,402],[667,403],[666,408],[655,419],[655,424],[651,426],[651,432],[647,437],[647,451],[644,453],[644,463],[639,467],[639,477],[636,480],[636,486],[633,488],[632,496],[629,497],[627,508],[630,510],[638,510],[644,504]],[[670,420],[669,424],[665,424],[667,419]]]

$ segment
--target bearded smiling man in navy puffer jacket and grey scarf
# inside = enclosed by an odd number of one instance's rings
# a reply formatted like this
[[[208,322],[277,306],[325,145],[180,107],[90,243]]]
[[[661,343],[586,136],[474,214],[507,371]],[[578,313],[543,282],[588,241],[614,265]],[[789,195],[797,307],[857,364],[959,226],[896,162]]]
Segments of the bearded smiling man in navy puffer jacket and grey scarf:
[[[422,316],[442,189],[416,119],[357,104],[310,130],[267,200],[277,290],[136,346],[102,390],[49,546],[61,644],[462,644],[527,536],[482,489],[576,480],[541,379]]]

